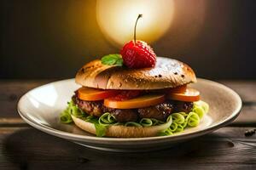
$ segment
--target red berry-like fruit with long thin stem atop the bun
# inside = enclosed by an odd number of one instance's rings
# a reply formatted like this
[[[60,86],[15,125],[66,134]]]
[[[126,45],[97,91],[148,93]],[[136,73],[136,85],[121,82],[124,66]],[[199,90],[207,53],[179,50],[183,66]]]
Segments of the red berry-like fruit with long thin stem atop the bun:
[[[142,16],[143,14],[139,14],[137,20]],[[156,63],[156,55],[154,54],[153,49],[146,42],[136,40],[137,20],[134,27],[134,40],[125,43],[120,54],[122,55],[124,64],[129,68],[138,69],[154,67]]]

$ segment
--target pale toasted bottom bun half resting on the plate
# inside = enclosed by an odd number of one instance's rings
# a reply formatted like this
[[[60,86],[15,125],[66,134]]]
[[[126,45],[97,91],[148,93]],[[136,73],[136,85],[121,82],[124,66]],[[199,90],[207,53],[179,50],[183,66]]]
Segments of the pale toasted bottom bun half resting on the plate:
[[[85,122],[75,116],[72,116],[73,122],[76,126],[83,129],[86,132],[96,134],[96,128],[93,123]],[[110,126],[106,132],[107,137],[117,137],[117,138],[143,138],[157,136],[161,130],[165,130],[170,127],[171,122],[167,122],[160,126],[154,127],[125,127],[125,126]]]

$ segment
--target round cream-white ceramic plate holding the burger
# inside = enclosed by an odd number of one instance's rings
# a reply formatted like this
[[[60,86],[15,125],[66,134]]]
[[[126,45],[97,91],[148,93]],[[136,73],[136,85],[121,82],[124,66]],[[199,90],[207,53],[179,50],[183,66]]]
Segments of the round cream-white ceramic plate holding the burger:
[[[159,150],[211,133],[232,122],[239,115],[241,99],[230,88],[218,82],[200,78],[191,86],[200,90],[201,99],[210,105],[210,111],[198,127],[191,127],[183,133],[172,136],[133,139],[99,138],[74,125],[62,124],[59,115],[67,106],[73,91],[79,88],[73,79],[51,82],[32,89],[20,98],[18,111],[32,127],[90,148],[114,151]]]

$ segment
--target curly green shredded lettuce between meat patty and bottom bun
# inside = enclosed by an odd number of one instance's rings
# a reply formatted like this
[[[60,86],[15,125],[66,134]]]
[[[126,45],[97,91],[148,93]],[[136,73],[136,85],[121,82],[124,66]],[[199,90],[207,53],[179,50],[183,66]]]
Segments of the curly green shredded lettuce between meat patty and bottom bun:
[[[174,133],[183,132],[186,127],[196,127],[199,125],[201,118],[209,111],[209,105],[204,101],[194,102],[192,111],[189,113],[178,112],[172,113],[168,116],[166,122],[172,119],[172,124],[167,129],[159,133],[160,136],[172,135]],[[67,102],[67,108],[61,112],[60,120],[63,123],[73,122],[72,116],[79,117],[85,122],[91,122],[96,128],[96,136],[105,136],[107,129],[112,125],[126,126],[126,127],[151,127],[158,126],[166,122],[158,121],[154,118],[143,118],[140,122],[117,122],[115,117],[110,113],[106,112],[99,118],[96,116],[87,115],[84,111],[80,110],[77,105],[74,104],[73,100]]]

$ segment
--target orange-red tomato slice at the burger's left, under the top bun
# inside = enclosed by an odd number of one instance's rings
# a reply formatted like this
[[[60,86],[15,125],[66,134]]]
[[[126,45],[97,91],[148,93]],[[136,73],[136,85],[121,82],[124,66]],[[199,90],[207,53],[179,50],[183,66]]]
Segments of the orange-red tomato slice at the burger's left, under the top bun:
[[[102,90],[98,88],[79,88],[78,97],[83,100],[102,100],[106,98],[111,98],[115,95],[119,94],[118,90]]]

